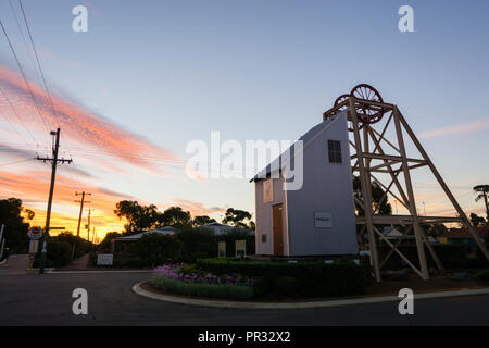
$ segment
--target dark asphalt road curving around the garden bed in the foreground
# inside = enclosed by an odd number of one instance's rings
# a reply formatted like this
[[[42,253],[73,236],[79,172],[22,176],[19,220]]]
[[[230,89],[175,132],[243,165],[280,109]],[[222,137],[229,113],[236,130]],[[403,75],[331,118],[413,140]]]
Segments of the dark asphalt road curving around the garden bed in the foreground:
[[[11,274],[0,271],[0,325],[489,325],[489,296],[304,310],[192,307],[139,297],[150,273]],[[88,291],[88,315],[74,315],[73,289]]]

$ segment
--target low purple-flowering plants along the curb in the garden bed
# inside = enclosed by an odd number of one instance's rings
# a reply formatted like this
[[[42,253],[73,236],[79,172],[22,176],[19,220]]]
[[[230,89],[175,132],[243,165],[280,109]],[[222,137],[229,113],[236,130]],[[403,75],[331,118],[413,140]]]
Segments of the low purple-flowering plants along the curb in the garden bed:
[[[163,291],[187,296],[231,299],[247,299],[253,296],[253,289],[249,286],[184,283],[163,275],[153,276],[151,284]]]

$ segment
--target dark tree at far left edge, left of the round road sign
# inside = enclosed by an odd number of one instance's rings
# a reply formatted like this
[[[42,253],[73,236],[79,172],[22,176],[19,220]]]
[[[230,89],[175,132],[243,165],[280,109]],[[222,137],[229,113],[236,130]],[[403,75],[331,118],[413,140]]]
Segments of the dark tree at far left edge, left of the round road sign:
[[[29,224],[24,222],[23,210],[22,200],[18,198],[0,200],[0,224],[5,225],[3,233],[11,252],[25,252],[28,249]]]

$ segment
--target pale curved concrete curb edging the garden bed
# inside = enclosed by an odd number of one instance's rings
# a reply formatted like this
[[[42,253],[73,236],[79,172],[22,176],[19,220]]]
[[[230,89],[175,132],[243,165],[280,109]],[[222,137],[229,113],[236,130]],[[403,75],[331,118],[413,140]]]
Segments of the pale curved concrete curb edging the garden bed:
[[[344,300],[326,300],[326,301],[310,301],[310,302],[238,302],[238,301],[224,301],[224,300],[204,300],[204,299],[193,299],[179,296],[170,296],[155,294],[145,290],[140,285],[145,282],[140,282],[133,286],[133,291],[139,296],[150,298],[153,300],[179,303],[179,304],[190,304],[190,306],[201,306],[201,307],[214,307],[214,308],[229,308],[229,309],[312,309],[312,308],[326,308],[326,307],[337,307],[337,306],[352,306],[352,304],[368,304],[368,303],[380,303],[380,302],[393,302],[399,301],[398,296],[379,296],[379,297],[365,297],[365,298],[354,298]],[[475,295],[489,295],[489,288],[480,289],[460,289],[454,291],[438,291],[438,293],[424,293],[414,294],[414,299],[431,299],[431,298],[446,298],[446,297],[456,297],[456,296],[475,296]]]

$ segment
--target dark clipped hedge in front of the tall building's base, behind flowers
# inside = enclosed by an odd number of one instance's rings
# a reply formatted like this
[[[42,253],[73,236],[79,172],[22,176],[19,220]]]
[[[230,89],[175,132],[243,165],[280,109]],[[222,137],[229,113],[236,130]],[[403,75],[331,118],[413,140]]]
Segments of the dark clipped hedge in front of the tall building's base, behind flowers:
[[[198,269],[216,275],[239,274],[256,279],[259,297],[329,297],[360,295],[366,288],[366,272],[353,262],[261,262],[201,259]]]

